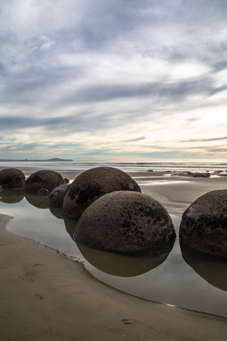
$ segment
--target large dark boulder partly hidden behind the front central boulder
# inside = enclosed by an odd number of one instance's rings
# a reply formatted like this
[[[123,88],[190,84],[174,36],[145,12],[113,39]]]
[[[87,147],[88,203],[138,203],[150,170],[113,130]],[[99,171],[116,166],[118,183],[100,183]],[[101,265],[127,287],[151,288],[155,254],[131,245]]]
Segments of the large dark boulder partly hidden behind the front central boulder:
[[[125,172],[112,167],[97,167],[81,173],[66,193],[63,212],[79,219],[83,211],[100,196],[115,191],[141,192],[140,186]]]

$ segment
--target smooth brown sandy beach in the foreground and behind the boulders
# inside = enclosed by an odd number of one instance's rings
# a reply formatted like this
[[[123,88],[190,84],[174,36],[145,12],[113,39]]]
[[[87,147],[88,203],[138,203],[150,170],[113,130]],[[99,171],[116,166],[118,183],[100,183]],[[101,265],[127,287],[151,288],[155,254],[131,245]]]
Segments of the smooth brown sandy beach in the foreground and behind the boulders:
[[[37,170],[20,169],[26,176]],[[82,172],[58,171],[70,182]],[[141,182],[143,193],[178,216],[197,197],[224,189],[227,182],[219,176],[128,174]],[[0,214],[2,340],[226,340],[227,318],[115,290],[83,264],[7,231],[10,219]]]

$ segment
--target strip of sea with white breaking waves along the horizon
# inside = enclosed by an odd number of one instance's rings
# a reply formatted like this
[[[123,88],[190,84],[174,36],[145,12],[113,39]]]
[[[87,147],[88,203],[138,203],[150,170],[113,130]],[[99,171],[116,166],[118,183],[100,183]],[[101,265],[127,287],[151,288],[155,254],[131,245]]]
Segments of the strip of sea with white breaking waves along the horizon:
[[[0,167],[35,167],[54,170],[87,170],[94,167],[114,167],[125,172],[160,171],[160,172],[210,172],[227,169],[227,162],[108,162],[108,161],[0,161]]]

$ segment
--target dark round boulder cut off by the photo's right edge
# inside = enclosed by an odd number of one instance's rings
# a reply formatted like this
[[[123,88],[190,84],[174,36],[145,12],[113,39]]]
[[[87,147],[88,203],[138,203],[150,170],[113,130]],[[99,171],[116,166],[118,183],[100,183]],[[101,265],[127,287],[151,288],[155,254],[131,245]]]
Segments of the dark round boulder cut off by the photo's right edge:
[[[182,215],[179,238],[196,250],[227,257],[227,190],[196,199]]]

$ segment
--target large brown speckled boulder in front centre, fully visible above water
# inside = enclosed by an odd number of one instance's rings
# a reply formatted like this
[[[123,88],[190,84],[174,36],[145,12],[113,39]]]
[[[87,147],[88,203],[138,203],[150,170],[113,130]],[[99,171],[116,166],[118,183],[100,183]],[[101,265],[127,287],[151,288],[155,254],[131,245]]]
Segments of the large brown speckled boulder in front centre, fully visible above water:
[[[74,232],[79,243],[113,252],[147,250],[175,238],[166,209],[148,195],[131,191],[97,199],[83,212]]]

